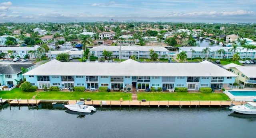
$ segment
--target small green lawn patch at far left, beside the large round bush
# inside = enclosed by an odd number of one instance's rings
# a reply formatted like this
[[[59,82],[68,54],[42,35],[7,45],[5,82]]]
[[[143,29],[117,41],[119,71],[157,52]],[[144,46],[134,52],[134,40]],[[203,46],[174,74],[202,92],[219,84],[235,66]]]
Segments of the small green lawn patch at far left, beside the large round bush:
[[[12,91],[0,91],[0,97],[3,99],[32,99],[36,92],[24,92],[19,88],[12,89]]]

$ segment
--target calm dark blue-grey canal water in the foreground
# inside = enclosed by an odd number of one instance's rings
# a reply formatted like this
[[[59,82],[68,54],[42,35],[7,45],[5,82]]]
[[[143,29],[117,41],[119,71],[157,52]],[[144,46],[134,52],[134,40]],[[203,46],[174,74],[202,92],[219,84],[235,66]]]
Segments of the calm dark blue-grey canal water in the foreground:
[[[246,138],[256,116],[220,107],[98,107],[96,113],[67,113],[62,104],[35,109],[1,107],[2,138]]]

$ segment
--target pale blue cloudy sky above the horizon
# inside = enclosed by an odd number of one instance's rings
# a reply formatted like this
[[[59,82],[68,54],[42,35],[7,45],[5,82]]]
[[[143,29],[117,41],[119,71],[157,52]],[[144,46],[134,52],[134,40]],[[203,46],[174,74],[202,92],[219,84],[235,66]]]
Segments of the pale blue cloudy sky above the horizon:
[[[0,0],[0,22],[255,23],[255,0]]]

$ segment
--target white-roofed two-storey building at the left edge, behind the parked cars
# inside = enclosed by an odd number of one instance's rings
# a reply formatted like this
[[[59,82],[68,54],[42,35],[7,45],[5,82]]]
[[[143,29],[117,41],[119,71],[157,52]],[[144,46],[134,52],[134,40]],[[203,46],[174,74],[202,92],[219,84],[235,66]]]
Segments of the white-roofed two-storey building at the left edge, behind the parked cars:
[[[29,51],[35,51],[35,47],[0,47],[0,53],[6,53],[4,58],[11,58],[11,56],[20,56],[20,58],[24,58],[26,54],[28,54],[29,58],[36,58],[35,52],[29,52]],[[8,51],[12,51],[11,53],[8,53]]]

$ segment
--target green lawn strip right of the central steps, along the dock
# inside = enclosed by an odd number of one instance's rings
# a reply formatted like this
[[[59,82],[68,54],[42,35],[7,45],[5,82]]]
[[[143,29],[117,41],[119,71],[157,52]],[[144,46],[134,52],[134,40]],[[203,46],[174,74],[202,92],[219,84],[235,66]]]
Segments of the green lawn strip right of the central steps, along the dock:
[[[146,99],[147,101],[226,101],[228,96],[224,93],[137,93],[138,100]]]

